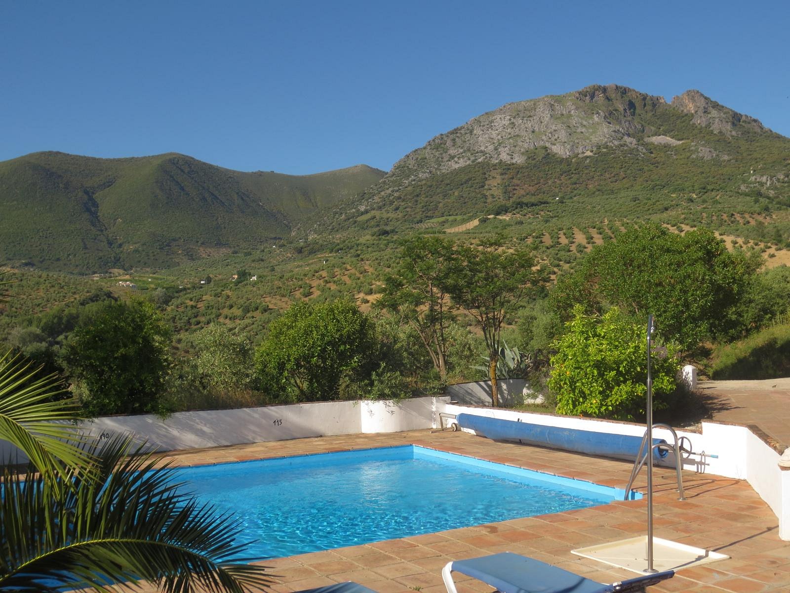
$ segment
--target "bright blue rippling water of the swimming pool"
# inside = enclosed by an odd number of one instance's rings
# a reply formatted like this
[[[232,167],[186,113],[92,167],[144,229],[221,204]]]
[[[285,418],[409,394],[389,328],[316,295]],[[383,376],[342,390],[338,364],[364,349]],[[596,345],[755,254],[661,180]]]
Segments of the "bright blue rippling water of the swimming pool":
[[[412,447],[179,470],[187,489],[243,519],[248,556],[404,538],[622,499],[623,491]],[[581,489],[580,486],[585,487]]]

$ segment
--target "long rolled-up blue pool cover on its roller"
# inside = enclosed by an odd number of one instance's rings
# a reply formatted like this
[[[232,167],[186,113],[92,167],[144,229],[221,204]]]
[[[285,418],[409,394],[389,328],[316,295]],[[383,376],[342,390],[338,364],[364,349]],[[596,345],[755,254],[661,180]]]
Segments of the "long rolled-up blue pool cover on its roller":
[[[516,440],[520,443],[577,451],[588,455],[636,459],[642,442],[641,436],[593,432],[590,430],[562,429],[559,426],[529,424],[515,420],[501,420],[475,414],[458,414],[456,423],[462,429],[472,429],[476,434],[491,440]],[[653,439],[653,444],[667,444],[664,439]],[[653,449],[656,461],[667,456],[663,448]],[[644,455],[644,452],[642,453]]]

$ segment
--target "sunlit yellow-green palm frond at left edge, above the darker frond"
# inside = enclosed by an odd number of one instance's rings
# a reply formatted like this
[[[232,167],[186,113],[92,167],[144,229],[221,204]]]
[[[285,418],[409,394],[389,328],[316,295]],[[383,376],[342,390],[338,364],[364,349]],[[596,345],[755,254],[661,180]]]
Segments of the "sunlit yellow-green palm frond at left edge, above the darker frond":
[[[36,370],[10,352],[0,357],[0,440],[16,445],[42,472],[86,463],[87,452],[74,443],[80,432],[70,424],[77,406],[53,400],[62,384],[55,375],[37,377]]]

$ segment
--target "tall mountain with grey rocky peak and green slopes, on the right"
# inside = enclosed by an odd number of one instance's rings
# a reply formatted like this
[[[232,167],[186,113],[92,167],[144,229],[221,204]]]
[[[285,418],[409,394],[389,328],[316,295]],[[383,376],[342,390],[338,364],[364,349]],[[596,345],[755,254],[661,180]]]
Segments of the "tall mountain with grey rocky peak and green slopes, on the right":
[[[788,153],[790,139],[698,90],[668,103],[621,85],[589,85],[511,102],[438,134],[331,217],[319,211],[305,225],[341,235],[360,225],[416,230],[450,213],[535,218],[539,205],[557,200],[548,210],[562,217],[559,204],[576,198],[589,213],[577,222],[586,225],[608,201],[660,200],[645,212],[654,216],[683,210],[684,195],[701,193],[739,208],[762,198],[770,203],[761,208],[785,207]]]

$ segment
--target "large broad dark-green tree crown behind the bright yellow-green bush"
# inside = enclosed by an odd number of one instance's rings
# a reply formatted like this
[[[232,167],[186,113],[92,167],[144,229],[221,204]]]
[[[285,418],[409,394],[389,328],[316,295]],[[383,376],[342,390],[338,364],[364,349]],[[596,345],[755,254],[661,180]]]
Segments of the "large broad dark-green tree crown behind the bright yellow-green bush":
[[[551,301],[564,319],[576,304],[588,313],[616,306],[635,319],[653,313],[664,336],[694,349],[732,331],[733,309],[758,266],[708,229],[678,235],[651,223],[594,247],[558,281]]]

